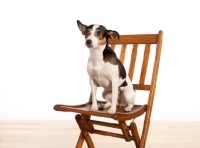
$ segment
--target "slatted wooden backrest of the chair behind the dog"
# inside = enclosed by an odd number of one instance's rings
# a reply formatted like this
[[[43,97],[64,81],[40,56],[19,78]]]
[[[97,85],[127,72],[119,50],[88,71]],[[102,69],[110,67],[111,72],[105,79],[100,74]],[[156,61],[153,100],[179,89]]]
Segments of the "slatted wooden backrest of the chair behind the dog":
[[[136,90],[150,91],[149,99],[148,99],[148,105],[150,105],[150,106],[152,106],[155,88],[156,88],[157,73],[158,73],[161,47],[162,47],[162,36],[163,36],[163,32],[159,31],[158,34],[121,35],[119,40],[117,38],[109,40],[109,45],[111,46],[111,48],[113,50],[115,49],[116,45],[119,45],[119,44],[122,45],[121,53],[119,56],[119,59],[122,63],[124,63],[124,59],[125,59],[125,55],[126,55],[125,53],[127,51],[126,50],[127,45],[130,45],[130,44],[133,45],[130,66],[129,66],[129,70],[128,70],[128,75],[131,80],[133,79],[133,76],[134,76],[138,47],[141,44],[145,45],[140,77],[139,77],[138,83],[133,84],[133,86],[134,86],[134,89],[136,89]],[[146,73],[147,73],[151,45],[156,46],[154,66],[153,66],[153,70],[152,70],[153,72],[151,75],[151,83],[145,84],[145,78],[146,78]]]

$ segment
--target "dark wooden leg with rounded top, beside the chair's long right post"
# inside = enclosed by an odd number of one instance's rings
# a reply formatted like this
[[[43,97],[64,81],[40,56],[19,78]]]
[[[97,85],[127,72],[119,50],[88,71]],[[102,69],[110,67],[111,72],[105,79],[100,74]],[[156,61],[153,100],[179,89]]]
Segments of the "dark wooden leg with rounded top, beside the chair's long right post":
[[[134,139],[134,142],[135,142],[135,146],[136,148],[140,148],[140,136],[138,134],[138,130],[137,130],[137,126],[135,124],[135,122],[131,122],[130,124],[130,127],[131,127],[131,133],[132,133],[132,136],[133,136],[133,139]]]

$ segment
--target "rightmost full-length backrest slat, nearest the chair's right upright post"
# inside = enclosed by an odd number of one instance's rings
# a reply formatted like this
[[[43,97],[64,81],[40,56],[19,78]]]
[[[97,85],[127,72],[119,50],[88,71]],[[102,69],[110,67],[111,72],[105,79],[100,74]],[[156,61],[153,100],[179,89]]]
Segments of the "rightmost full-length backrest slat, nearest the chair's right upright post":
[[[142,69],[141,69],[141,73],[140,73],[139,84],[144,84],[144,82],[145,82],[147,66],[148,66],[148,61],[149,61],[150,46],[151,46],[151,44],[145,45],[144,58],[143,58],[143,62],[142,62]]]

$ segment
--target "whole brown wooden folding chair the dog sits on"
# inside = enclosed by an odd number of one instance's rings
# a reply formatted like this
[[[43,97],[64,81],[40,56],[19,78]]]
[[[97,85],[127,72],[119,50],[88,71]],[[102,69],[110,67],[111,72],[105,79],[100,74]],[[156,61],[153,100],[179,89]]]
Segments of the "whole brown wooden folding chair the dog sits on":
[[[120,40],[118,40],[118,39],[109,40],[109,44],[111,45],[113,50],[115,48],[115,45],[122,44],[121,54],[120,54],[120,58],[119,58],[122,63],[124,63],[127,45],[133,44],[130,68],[128,71],[128,75],[131,80],[132,80],[133,74],[134,74],[138,45],[139,44],[145,45],[139,83],[133,84],[133,86],[134,86],[134,89],[136,89],[136,91],[137,90],[149,91],[149,97],[148,97],[147,104],[134,105],[131,112],[124,112],[123,107],[117,107],[117,111],[113,115],[107,113],[107,110],[109,108],[107,108],[105,110],[99,110],[99,111],[90,111],[91,95],[90,95],[89,102],[82,104],[82,105],[69,106],[69,105],[59,105],[58,104],[58,105],[54,106],[54,109],[56,111],[79,113],[75,116],[77,124],[81,130],[79,139],[76,144],[76,148],[81,148],[84,140],[86,141],[89,148],[95,147],[89,133],[123,138],[126,141],[133,140],[135,142],[136,148],[144,148],[145,147],[147,134],[148,134],[148,130],[149,130],[149,125],[150,125],[150,117],[151,117],[151,111],[152,111],[152,106],[153,106],[153,101],[154,101],[155,89],[156,89],[156,80],[157,80],[160,54],[161,54],[161,48],[162,48],[162,36],[163,36],[163,32],[159,31],[158,34],[121,35]],[[149,59],[150,49],[151,49],[150,47],[152,44],[156,45],[155,58],[154,58],[155,60],[154,60],[154,64],[153,64],[153,72],[151,73],[151,83],[145,84],[145,78],[146,78],[148,61],[149,61],[148,59]],[[137,99],[138,98],[136,97],[136,100]],[[104,101],[98,101],[98,104],[104,104],[104,103],[105,103]],[[135,119],[144,113],[145,113],[145,118],[144,118],[143,130],[142,130],[141,136],[139,136],[135,122],[131,122],[130,126],[128,126],[126,124],[126,121]],[[118,123],[108,123],[108,122],[91,120],[90,119],[91,116],[112,118],[114,120],[117,120]],[[100,125],[100,126],[121,129],[122,134],[97,130],[94,128],[93,125]]]

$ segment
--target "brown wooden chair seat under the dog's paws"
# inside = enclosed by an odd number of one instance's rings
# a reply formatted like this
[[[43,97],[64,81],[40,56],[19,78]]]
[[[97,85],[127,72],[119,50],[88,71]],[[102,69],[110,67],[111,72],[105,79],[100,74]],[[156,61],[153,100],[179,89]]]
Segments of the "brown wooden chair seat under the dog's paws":
[[[105,104],[105,101],[97,101],[98,105]],[[87,102],[81,105],[62,105],[57,104],[54,106],[54,110],[63,112],[76,112],[84,115],[93,115],[99,117],[113,118],[114,120],[124,121],[131,120],[138,116],[141,116],[146,110],[147,105],[134,105],[130,112],[125,112],[124,107],[117,106],[115,114],[109,114],[107,111],[110,107],[104,110],[91,111],[92,102]]]

